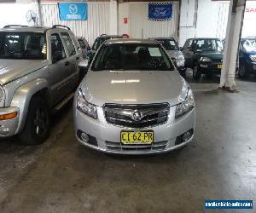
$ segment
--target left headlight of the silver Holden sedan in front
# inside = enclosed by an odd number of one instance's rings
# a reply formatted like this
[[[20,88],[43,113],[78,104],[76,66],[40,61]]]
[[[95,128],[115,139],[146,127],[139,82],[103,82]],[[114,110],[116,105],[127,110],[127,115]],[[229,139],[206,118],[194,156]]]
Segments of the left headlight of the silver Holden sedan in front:
[[[84,112],[84,114],[90,116],[91,118],[97,118],[96,106],[85,100],[81,89],[78,91],[77,107],[80,112]]]

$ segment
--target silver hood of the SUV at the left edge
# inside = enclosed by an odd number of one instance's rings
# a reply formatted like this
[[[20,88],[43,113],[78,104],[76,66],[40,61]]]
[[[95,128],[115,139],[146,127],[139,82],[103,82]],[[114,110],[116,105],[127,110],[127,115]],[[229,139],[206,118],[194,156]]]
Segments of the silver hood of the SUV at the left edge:
[[[0,59],[0,83],[9,83],[47,65],[48,60]]]

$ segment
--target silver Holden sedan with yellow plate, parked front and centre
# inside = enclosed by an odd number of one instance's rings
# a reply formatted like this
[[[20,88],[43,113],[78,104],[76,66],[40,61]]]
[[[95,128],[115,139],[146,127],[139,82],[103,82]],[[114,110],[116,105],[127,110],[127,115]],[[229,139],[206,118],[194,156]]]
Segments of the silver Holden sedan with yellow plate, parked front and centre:
[[[77,140],[106,153],[165,153],[187,145],[195,130],[193,93],[154,40],[103,43],[73,114]]]

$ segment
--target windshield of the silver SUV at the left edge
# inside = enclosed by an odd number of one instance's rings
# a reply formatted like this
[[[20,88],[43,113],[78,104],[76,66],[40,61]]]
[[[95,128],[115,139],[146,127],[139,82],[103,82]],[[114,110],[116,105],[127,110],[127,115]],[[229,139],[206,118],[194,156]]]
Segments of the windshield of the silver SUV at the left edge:
[[[44,33],[0,32],[0,59],[45,59]]]

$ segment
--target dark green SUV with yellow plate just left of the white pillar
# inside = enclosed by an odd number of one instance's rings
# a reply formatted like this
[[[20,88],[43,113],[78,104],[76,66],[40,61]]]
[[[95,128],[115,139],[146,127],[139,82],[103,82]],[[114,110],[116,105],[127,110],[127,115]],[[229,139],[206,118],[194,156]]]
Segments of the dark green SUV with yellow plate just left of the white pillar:
[[[193,69],[193,78],[201,74],[220,74],[223,63],[223,43],[218,38],[190,38],[183,46],[187,66]]]

